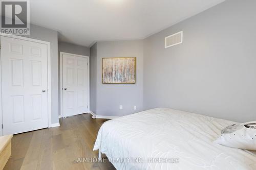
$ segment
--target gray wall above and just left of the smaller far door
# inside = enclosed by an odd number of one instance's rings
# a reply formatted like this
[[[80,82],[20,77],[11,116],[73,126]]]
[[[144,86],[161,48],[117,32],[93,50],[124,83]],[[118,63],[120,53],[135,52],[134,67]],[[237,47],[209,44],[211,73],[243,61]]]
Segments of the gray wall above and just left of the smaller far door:
[[[59,99],[59,113],[60,115],[60,52],[65,52],[65,53],[71,53],[71,54],[77,54],[77,55],[82,55],[82,56],[90,56],[90,48],[86,46],[81,46],[81,45],[76,45],[68,42],[58,42],[58,87],[59,87],[59,93],[58,93],[58,99]]]

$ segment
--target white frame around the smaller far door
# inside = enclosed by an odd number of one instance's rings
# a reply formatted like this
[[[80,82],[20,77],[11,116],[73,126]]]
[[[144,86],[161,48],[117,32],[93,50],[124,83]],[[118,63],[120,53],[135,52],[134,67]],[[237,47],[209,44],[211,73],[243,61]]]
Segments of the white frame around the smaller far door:
[[[88,101],[88,111],[90,111],[90,57],[89,56],[83,56],[78,54],[72,54],[72,53],[66,53],[66,52],[59,52],[59,66],[60,66],[60,115],[59,118],[63,117],[63,55],[71,55],[76,57],[83,57],[87,58],[88,66],[87,66],[87,77],[88,77],[88,83],[87,83],[87,101]]]

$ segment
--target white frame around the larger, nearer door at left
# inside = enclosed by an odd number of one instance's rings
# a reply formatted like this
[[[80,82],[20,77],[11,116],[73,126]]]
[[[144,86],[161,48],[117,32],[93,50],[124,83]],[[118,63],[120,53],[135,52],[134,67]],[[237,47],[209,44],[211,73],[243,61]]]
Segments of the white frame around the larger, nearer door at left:
[[[31,42],[36,42],[36,43],[40,43],[40,44],[46,44],[47,45],[47,90],[48,90],[48,94],[47,94],[47,104],[48,104],[48,128],[52,127],[52,103],[51,103],[51,43],[48,41],[41,41],[38,39],[33,39],[33,38],[27,38],[27,37],[22,37],[22,36],[17,36],[17,35],[12,35],[12,34],[3,34],[1,33],[0,36],[3,37],[9,37],[9,38],[14,38],[14,39],[18,39],[18,40],[25,40],[25,41],[31,41]],[[1,43],[1,42],[0,42]],[[0,49],[0,120],[1,124],[4,123],[3,120],[3,109],[2,109],[2,67],[1,67],[1,49]],[[4,129],[2,129],[2,127],[0,127],[0,136],[3,135],[3,131]],[[2,132],[2,133],[1,133]]]

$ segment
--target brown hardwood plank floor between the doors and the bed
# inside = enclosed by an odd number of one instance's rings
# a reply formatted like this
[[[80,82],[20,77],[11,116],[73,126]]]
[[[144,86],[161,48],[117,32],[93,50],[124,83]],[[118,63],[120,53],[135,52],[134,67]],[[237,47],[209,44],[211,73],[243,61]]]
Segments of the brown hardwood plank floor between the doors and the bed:
[[[77,163],[81,157],[98,157],[98,151],[92,150],[106,120],[86,113],[60,118],[60,127],[13,135],[12,155],[4,170],[115,169],[109,162]]]

